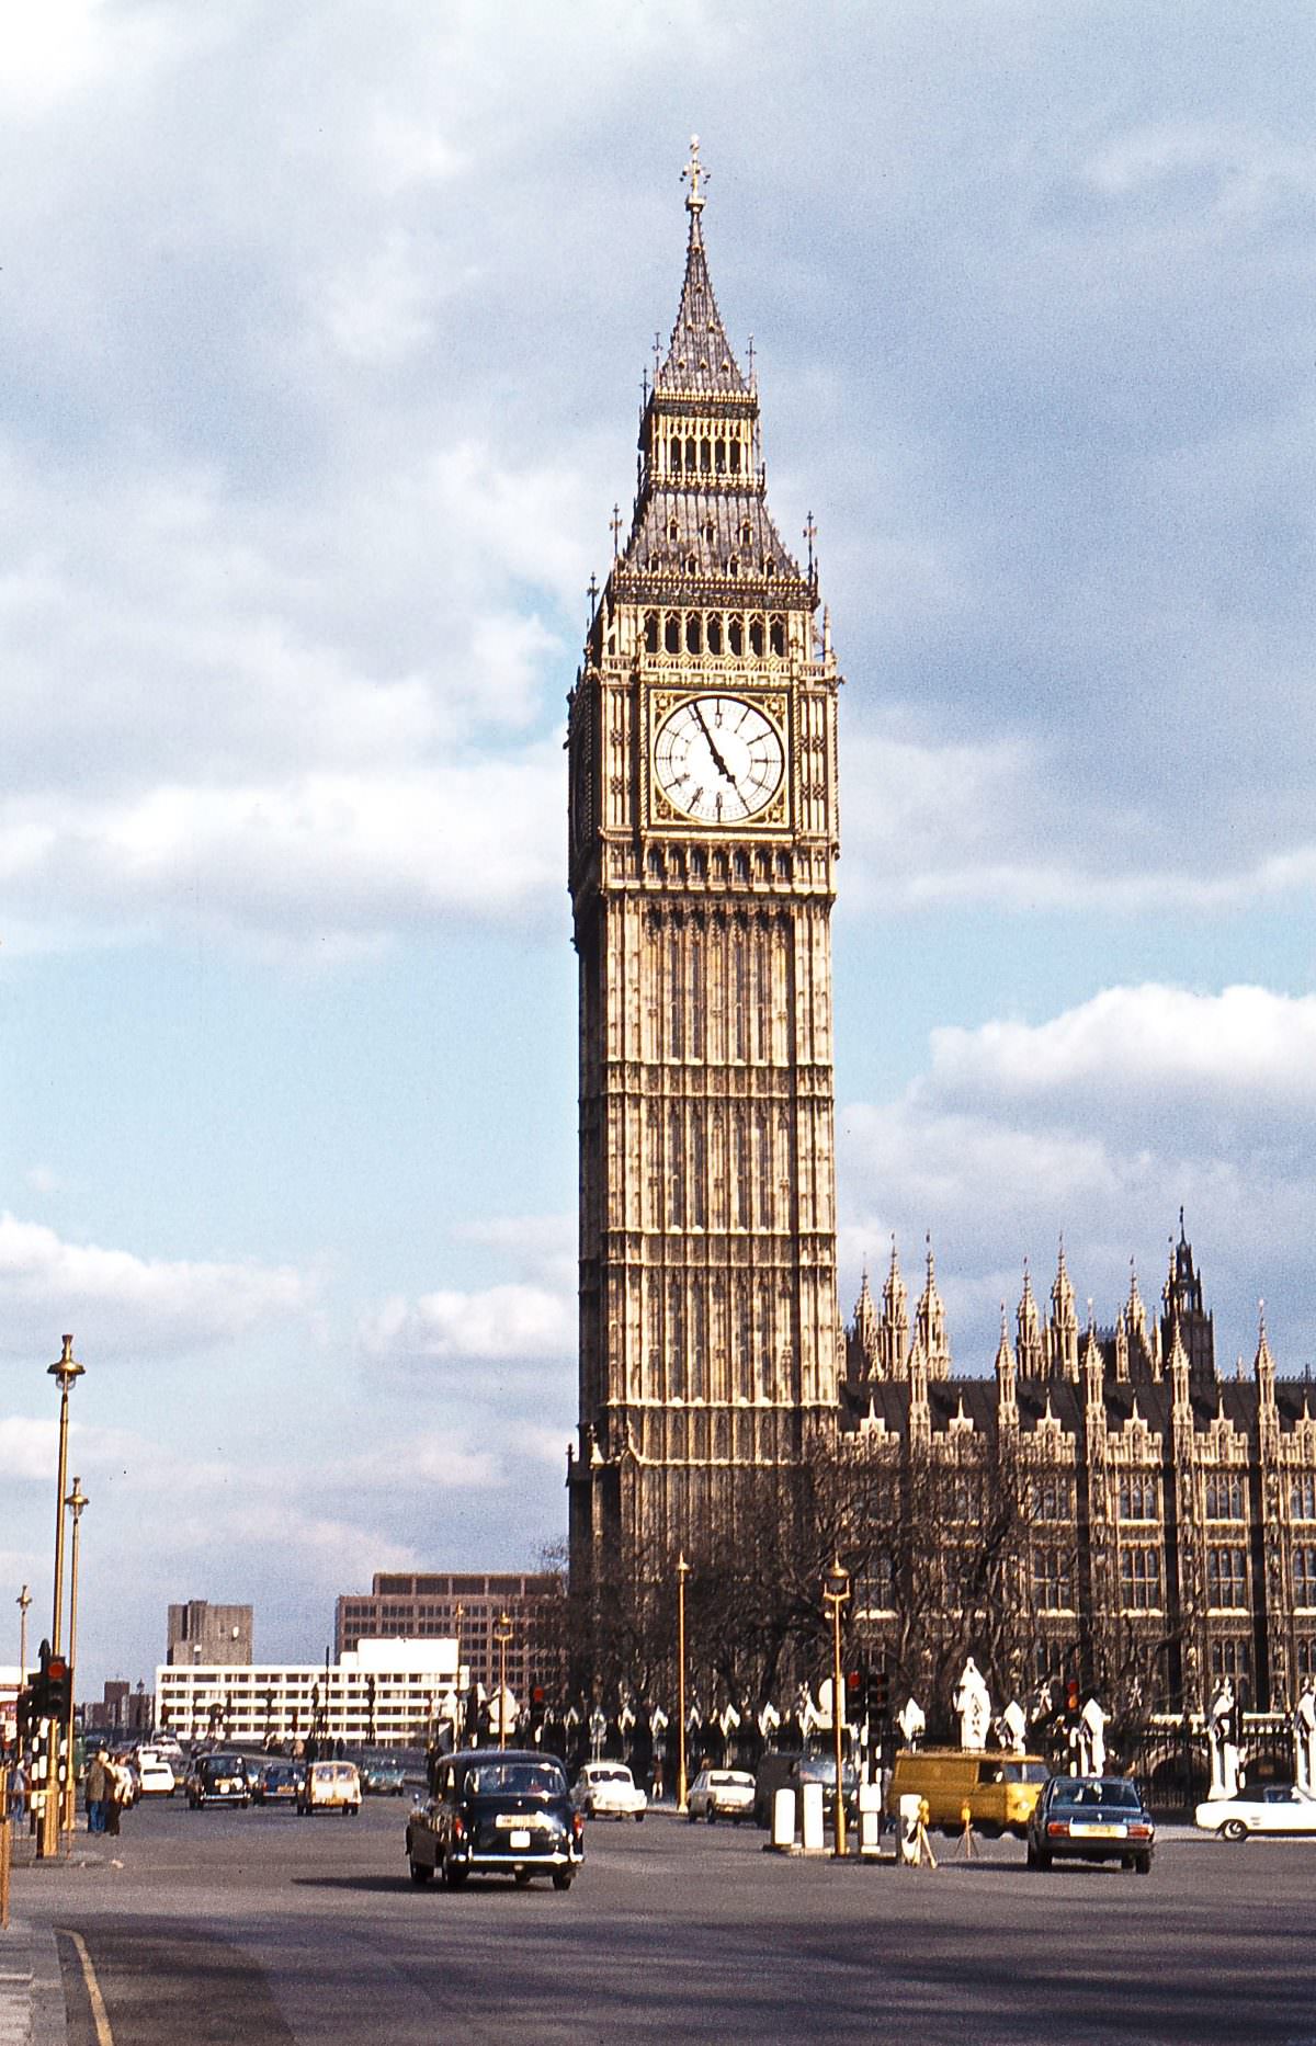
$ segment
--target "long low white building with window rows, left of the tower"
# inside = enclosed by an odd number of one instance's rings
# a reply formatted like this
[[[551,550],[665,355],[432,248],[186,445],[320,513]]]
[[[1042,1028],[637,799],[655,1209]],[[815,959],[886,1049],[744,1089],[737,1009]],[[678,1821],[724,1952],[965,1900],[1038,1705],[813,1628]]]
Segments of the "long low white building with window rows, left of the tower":
[[[467,1672],[456,1641],[360,1641],[338,1663],[162,1663],[156,1721],[180,1741],[260,1745],[319,1733],[348,1745],[415,1747]]]

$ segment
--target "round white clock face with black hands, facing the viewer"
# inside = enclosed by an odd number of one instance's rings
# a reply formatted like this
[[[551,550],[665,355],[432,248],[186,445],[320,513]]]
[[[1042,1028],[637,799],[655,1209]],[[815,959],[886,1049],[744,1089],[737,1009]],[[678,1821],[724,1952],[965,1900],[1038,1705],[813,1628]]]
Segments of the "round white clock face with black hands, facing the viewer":
[[[700,825],[739,825],[782,786],[782,735],[743,696],[692,696],[659,724],[653,773],[663,796]]]

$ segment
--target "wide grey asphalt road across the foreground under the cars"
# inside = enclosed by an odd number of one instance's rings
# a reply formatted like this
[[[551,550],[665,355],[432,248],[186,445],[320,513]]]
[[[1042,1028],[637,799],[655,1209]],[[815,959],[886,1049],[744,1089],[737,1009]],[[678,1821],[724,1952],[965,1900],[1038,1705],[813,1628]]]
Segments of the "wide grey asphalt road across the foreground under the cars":
[[[915,1872],[651,1815],[594,1821],[569,1895],[448,1893],[409,1884],[403,1823],[174,1800],[18,1870],[72,2046],[1316,2046],[1316,1841],[1165,1837],[1150,1878],[948,1841]]]

